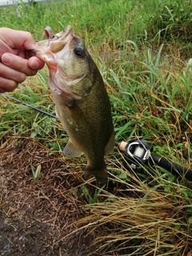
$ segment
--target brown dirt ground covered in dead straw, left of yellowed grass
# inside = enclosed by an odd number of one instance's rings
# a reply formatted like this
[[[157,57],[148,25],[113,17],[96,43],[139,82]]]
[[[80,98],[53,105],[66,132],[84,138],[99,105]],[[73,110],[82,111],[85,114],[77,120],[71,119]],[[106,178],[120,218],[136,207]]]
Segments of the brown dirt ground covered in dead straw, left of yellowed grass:
[[[48,153],[31,138],[6,138],[0,147],[0,254],[96,255],[90,246],[95,231],[75,225],[87,215],[83,170],[71,174],[67,159]],[[38,165],[42,170],[36,183],[31,166],[36,170]]]

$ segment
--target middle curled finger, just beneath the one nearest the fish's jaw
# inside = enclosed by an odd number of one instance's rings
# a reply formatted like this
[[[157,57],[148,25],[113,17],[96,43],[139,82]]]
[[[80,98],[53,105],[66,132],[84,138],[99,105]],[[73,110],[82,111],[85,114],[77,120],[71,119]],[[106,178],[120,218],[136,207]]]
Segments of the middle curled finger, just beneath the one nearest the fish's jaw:
[[[17,83],[21,83],[26,80],[26,74],[13,70],[9,66],[0,63],[0,78],[6,78]]]

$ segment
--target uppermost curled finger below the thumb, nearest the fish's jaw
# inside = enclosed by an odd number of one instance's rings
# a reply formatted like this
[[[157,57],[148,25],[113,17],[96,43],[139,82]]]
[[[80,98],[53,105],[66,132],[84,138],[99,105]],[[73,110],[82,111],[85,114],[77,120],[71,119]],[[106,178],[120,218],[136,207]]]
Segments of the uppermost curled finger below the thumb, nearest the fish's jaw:
[[[37,74],[37,70],[32,70],[28,66],[28,60],[14,54],[2,54],[2,63],[12,70],[17,70],[27,76]]]

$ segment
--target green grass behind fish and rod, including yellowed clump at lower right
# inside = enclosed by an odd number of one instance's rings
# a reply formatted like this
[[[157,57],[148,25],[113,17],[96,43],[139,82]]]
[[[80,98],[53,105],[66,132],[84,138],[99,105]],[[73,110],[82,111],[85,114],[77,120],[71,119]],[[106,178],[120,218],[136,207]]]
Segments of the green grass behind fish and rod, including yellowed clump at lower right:
[[[145,139],[154,154],[191,169],[191,1],[32,2],[0,14],[0,26],[29,30],[37,41],[46,26],[58,32],[70,24],[106,82],[116,140]],[[9,95],[54,114],[47,75],[45,68]],[[3,94],[1,103],[2,141],[25,135],[62,152],[67,136],[58,121]],[[117,255],[186,255],[192,244],[190,182],[150,166],[134,176],[117,150],[107,161],[121,196],[82,187],[91,216],[77,222],[98,229],[98,253],[108,247]]]

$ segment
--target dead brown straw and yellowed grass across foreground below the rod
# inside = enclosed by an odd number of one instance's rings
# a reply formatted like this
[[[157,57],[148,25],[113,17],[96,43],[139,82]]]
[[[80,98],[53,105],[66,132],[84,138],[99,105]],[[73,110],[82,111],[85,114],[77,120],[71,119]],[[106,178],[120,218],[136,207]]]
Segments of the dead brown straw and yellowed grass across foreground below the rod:
[[[0,147],[0,227],[5,234],[2,244],[9,243],[10,249],[4,255],[190,253],[191,205],[190,198],[184,198],[190,188],[165,178],[160,186],[152,171],[149,181],[143,182],[129,174],[114,154],[108,159],[112,170],[108,190],[90,203],[82,187],[90,196],[99,188],[94,182],[83,183],[85,163],[84,158],[53,154],[31,138],[6,138]],[[42,171],[35,183],[31,166],[38,165]],[[129,180],[120,182],[115,175],[119,165]]]

